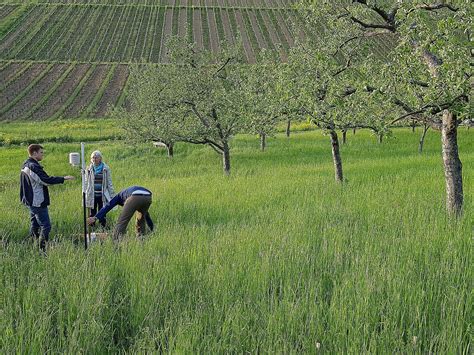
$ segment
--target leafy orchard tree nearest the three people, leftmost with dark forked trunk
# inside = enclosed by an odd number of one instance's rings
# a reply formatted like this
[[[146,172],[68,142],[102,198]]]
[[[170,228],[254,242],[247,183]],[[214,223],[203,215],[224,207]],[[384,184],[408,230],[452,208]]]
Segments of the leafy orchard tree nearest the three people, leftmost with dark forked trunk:
[[[194,44],[170,37],[169,64],[134,70],[125,129],[165,144],[208,145],[222,156],[229,175],[230,141],[246,126],[246,70],[238,43],[222,43],[217,52],[197,51]]]

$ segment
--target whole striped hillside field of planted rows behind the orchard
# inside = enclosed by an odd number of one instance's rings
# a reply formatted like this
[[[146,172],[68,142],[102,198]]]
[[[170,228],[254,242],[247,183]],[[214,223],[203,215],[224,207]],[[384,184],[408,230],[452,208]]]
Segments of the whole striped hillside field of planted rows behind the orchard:
[[[102,117],[123,102],[131,63],[166,63],[167,36],[218,50],[243,40],[285,60],[293,0],[62,0],[0,4],[0,120]]]

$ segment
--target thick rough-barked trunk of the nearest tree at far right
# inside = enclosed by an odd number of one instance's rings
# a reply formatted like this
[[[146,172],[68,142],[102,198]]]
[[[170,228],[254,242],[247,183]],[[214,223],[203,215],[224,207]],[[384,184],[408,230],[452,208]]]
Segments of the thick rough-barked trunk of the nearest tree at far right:
[[[441,142],[443,148],[444,177],[446,180],[446,208],[450,214],[462,212],[462,164],[458,154],[457,119],[448,110],[443,112]]]

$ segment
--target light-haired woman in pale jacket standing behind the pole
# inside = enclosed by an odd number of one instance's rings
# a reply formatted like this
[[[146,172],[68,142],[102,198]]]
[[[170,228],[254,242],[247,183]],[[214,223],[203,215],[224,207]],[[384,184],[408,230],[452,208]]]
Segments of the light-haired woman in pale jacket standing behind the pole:
[[[96,213],[114,197],[110,167],[102,161],[102,153],[95,150],[91,154],[91,164],[86,169],[86,207],[91,209],[90,216]],[[106,226],[102,219],[100,224]]]

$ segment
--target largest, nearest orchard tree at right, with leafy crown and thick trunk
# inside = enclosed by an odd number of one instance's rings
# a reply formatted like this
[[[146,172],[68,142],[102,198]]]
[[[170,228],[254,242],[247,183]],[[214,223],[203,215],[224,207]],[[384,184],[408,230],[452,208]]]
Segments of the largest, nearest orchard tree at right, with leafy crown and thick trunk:
[[[321,0],[305,2],[302,12],[337,28],[321,33],[323,51],[336,47],[344,52],[362,41],[393,43],[383,60],[372,55],[363,62],[372,73],[370,85],[405,111],[392,123],[410,117],[441,129],[447,210],[460,215],[457,127],[469,116],[471,1]]]

